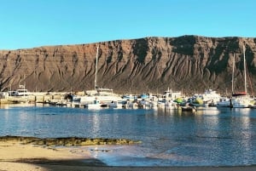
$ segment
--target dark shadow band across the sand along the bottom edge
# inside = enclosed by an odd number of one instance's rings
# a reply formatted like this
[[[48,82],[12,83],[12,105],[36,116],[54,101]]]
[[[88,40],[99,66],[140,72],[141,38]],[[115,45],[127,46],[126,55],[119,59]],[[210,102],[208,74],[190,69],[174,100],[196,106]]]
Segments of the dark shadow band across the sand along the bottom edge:
[[[27,158],[15,162],[29,163],[45,171],[254,171],[256,166],[238,167],[111,167],[98,159],[49,160]]]

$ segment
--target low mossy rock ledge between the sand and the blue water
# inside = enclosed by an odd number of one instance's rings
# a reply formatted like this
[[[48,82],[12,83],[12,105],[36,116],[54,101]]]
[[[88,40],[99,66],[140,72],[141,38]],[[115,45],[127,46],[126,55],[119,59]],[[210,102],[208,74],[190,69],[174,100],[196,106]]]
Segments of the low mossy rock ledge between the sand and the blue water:
[[[140,143],[140,141],[126,139],[104,139],[104,138],[37,138],[23,136],[2,136],[0,142],[20,142],[20,144],[28,145],[64,145],[64,146],[79,146],[79,145],[131,145]]]

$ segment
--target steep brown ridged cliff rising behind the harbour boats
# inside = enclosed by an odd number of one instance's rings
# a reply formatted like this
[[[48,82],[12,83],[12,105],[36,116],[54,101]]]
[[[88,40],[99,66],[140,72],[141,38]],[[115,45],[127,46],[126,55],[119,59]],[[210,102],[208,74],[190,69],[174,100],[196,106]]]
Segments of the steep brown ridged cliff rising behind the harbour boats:
[[[236,89],[242,90],[243,43],[250,90],[255,88],[256,38],[196,36],[2,50],[0,88],[26,83],[30,91],[92,89],[99,45],[97,84],[117,93],[162,93],[168,87],[186,93],[206,88],[230,91],[234,53]]]

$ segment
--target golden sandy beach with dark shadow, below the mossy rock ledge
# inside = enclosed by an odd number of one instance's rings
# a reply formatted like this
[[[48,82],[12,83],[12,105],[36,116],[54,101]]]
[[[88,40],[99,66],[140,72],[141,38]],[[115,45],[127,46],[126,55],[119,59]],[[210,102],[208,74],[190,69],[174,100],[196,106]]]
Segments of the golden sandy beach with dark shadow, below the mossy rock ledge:
[[[79,146],[55,148],[45,145],[24,145],[17,141],[2,141],[0,142],[0,170],[254,171],[256,167],[108,167],[91,157],[90,151],[84,151]]]

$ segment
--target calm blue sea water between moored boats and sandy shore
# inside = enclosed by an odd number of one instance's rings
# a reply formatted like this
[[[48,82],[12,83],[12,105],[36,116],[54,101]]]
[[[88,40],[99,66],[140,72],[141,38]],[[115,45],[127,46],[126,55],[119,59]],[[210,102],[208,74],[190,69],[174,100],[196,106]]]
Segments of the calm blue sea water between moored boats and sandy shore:
[[[112,166],[256,164],[256,110],[253,109],[200,108],[193,116],[160,109],[3,105],[0,135],[142,141],[138,145],[83,147]]]

